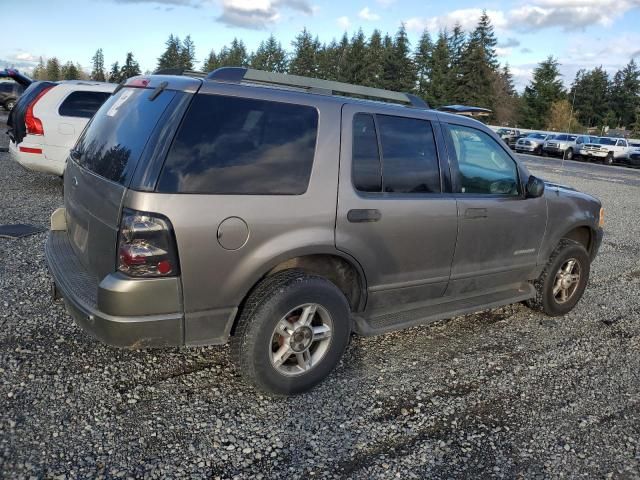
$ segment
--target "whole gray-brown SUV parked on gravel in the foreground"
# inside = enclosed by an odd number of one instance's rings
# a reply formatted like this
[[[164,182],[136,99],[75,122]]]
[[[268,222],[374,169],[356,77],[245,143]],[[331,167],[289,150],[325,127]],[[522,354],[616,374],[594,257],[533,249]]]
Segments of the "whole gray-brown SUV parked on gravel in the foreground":
[[[602,222],[598,200],[530,175],[478,121],[225,68],[135,77],[106,101],[67,162],[46,259],[103,342],[230,340],[243,376],[292,394],[352,333],[520,301],[567,313]]]

